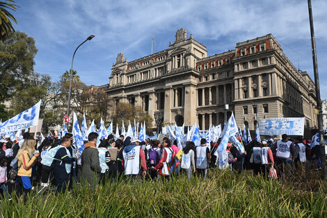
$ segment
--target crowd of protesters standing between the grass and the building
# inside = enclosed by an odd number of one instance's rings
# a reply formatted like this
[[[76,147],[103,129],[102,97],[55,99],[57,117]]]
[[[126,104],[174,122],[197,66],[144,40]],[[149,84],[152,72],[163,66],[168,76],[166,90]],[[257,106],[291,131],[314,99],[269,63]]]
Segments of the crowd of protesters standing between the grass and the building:
[[[29,132],[24,133],[24,141],[1,139],[2,199],[11,201],[15,190],[17,196],[24,196],[26,201],[36,185],[40,185],[40,190],[60,193],[72,189],[73,182],[86,182],[90,187],[97,187],[106,180],[168,180],[183,173],[188,180],[192,176],[205,179],[208,169],[216,168],[220,161],[235,173],[252,169],[255,175],[273,178],[277,177],[270,175],[273,169],[278,169],[278,176],[289,176],[289,169],[304,165],[309,169],[321,167],[318,146],[310,148],[310,140],[291,141],[286,134],[278,141],[244,143],[244,153],[228,143],[228,155],[223,160],[214,155],[220,140],[211,142],[210,146],[206,139],[200,140],[200,146],[186,141],[180,149],[177,141],[167,137],[139,141],[121,135],[115,140],[111,134],[97,146],[98,137],[96,132],[91,132],[82,153],[73,146],[71,133],[66,133],[62,139],[50,137],[42,143]]]

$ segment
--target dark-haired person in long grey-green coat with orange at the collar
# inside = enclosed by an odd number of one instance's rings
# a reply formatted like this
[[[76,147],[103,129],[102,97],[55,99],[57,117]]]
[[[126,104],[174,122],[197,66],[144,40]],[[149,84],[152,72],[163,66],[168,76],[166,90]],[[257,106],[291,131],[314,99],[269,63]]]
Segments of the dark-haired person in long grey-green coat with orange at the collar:
[[[99,151],[96,146],[98,136],[96,132],[88,134],[88,143],[85,144],[81,155],[81,178],[89,185],[97,185],[101,172]]]

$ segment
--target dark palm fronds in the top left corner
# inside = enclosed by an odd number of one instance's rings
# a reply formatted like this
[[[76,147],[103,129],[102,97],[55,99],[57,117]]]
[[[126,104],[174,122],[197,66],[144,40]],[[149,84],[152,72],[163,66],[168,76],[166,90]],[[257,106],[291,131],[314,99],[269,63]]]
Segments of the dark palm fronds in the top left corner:
[[[18,6],[14,4],[15,1],[13,0],[6,0],[6,1],[10,1],[10,2],[0,1],[0,40],[1,41],[5,40],[10,33],[15,32],[15,29],[13,28],[13,25],[11,24],[10,20],[13,20],[13,22],[17,24],[17,20],[12,14],[8,12],[7,8],[16,11]]]

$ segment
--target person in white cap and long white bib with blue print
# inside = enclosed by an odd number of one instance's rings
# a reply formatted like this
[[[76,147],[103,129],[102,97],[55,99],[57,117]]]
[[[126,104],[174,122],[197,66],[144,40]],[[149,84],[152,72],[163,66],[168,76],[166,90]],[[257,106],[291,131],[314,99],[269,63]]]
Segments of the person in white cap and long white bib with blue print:
[[[145,153],[139,146],[140,142],[136,137],[133,137],[129,145],[122,150],[124,157],[122,166],[125,169],[125,176],[129,176],[131,179],[138,179],[140,175],[144,178],[147,171]]]

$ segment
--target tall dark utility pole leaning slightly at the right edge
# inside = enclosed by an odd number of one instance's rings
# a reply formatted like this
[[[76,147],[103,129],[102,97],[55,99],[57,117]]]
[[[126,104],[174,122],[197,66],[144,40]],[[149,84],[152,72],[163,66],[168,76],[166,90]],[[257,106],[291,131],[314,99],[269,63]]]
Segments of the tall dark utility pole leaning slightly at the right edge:
[[[318,75],[318,63],[317,63],[317,51],[316,51],[316,40],[314,38],[314,27],[312,18],[312,6],[311,0],[308,0],[309,19],[310,19],[310,32],[311,32],[311,45],[312,45],[312,60],[313,60],[313,72],[314,72],[314,84],[316,86],[316,101],[318,114],[318,128],[319,128],[319,148],[320,148],[320,159],[321,159],[321,176],[323,180],[327,180],[327,168],[326,168],[326,153],[324,145],[324,127],[322,120],[322,108],[319,88],[319,75]]]

